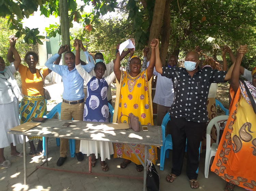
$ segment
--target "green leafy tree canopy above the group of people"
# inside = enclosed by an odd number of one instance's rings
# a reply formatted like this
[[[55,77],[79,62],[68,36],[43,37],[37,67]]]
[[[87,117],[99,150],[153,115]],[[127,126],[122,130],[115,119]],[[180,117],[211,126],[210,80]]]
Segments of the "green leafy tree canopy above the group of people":
[[[59,16],[61,0],[0,1],[0,16],[7,17],[9,28],[16,30],[16,36],[24,35],[26,43],[40,43],[38,29],[23,28],[21,20],[29,17],[38,8],[42,15]],[[72,21],[81,23],[76,37],[83,38],[89,46],[106,51],[112,50],[117,42],[134,37],[136,50],[149,45],[152,38],[161,41],[160,56],[166,57],[192,50],[196,45],[217,57],[219,47],[224,44],[236,50],[240,44],[248,45],[244,64],[255,66],[256,53],[256,2],[255,0],[83,0],[77,5],[68,0],[69,27]],[[93,5],[85,13],[86,5]],[[102,19],[108,12],[118,11],[128,15],[124,19]],[[60,26],[51,24],[49,36],[61,34]],[[210,37],[210,38],[209,38]],[[211,40],[209,40],[211,39]]]

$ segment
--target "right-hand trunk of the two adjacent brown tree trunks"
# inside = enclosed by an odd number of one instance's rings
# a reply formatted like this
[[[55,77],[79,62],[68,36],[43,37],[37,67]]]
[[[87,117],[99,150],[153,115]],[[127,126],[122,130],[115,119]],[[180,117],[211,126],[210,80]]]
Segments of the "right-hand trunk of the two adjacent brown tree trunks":
[[[170,0],[166,0],[165,12],[163,15],[161,49],[160,49],[160,59],[161,59],[162,65],[165,65],[166,63],[166,56],[167,56],[169,42],[170,42],[170,34],[171,34]]]

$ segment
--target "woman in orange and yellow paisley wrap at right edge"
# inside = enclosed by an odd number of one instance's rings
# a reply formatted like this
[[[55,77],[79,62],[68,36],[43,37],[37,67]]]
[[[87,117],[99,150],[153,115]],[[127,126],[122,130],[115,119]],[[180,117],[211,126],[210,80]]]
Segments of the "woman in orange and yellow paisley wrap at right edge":
[[[230,84],[230,115],[211,167],[228,182],[225,191],[232,191],[235,185],[256,191],[256,67],[252,83],[239,80],[246,52],[247,45],[237,52]]]

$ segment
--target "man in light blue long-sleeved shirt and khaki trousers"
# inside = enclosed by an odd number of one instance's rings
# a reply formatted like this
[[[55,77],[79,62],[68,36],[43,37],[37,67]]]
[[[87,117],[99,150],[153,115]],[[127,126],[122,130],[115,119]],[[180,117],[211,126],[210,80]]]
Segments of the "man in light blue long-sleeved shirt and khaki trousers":
[[[55,54],[47,60],[45,66],[56,72],[62,77],[64,91],[62,93],[62,104],[60,119],[80,120],[83,121],[84,112],[84,79],[80,76],[75,68],[75,55],[73,52],[66,52],[64,60],[66,65],[53,64],[56,59],[69,49],[68,45],[61,46],[58,54]],[[90,72],[94,68],[94,63],[83,65],[82,67]],[[82,161],[84,156],[79,152],[80,140],[75,140],[75,155],[78,161]],[[67,159],[68,139],[60,139],[60,158],[57,166],[61,166]]]

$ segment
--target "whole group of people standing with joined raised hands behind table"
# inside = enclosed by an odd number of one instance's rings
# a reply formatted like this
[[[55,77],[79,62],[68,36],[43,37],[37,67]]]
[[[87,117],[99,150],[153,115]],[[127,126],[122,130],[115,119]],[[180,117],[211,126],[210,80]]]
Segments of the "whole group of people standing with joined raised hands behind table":
[[[10,167],[10,161],[3,156],[3,148],[11,145],[12,156],[22,156],[15,145],[22,142],[17,135],[7,134],[11,127],[28,122],[36,117],[42,117],[46,112],[46,103],[43,94],[43,79],[54,71],[62,77],[64,90],[62,93],[61,119],[80,120],[91,122],[109,122],[109,104],[112,104],[110,84],[116,80],[116,101],[114,106],[113,122],[126,123],[131,112],[139,118],[141,125],[154,125],[152,102],[158,104],[157,125],[161,125],[163,116],[169,111],[171,124],[167,134],[172,135],[172,169],[166,177],[173,183],[182,172],[185,145],[187,143],[186,174],[189,185],[193,189],[199,187],[196,173],[199,166],[199,146],[203,139],[207,122],[216,116],[212,110],[214,105],[217,83],[231,80],[230,88],[230,117],[224,130],[219,148],[212,165],[212,171],[225,177],[229,182],[225,190],[233,190],[234,185],[256,189],[256,174],[249,168],[256,157],[256,68],[252,72],[240,66],[242,57],[247,52],[247,45],[240,46],[237,58],[229,47],[222,51],[223,71],[212,69],[211,66],[198,66],[201,51],[196,47],[186,54],[183,67],[176,67],[177,58],[171,55],[166,66],[162,66],[159,53],[159,40],[151,41],[151,56],[148,59],[149,48],[143,50],[143,60],[134,56],[131,49],[117,52],[116,58],[109,64],[104,63],[102,53],[96,53],[93,58],[79,39],[74,40],[76,53],[70,51],[68,45],[59,48],[45,63],[46,67],[36,69],[38,55],[28,52],[25,55],[27,66],[21,65],[21,60],[15,49],[16,38],[11,36],[7,58],[11,65],[5,67],[0,57],[0,110],[2,130],[0,140],[0,164]],[[87,59],[84,65],[80,59],[80,50],[84,51]],[[118,45],[117,45],[118,49]],[[226,53],[229,53],[233,65],[228,69]],[[66,65],[58,65],[61,54],[64,54]],[[130,57],[127,70],[120,69],[120,60],[127,54]],[[82,64],[81,64],[82,63]],[[17,86],[13,74],[18,71],[22,79],[22,94]],[[239,80],[242,74],[248,82]],[[152,78],[157,75],[155,98],[152,101]],[[87,84],[87,94],[83,91],[84,82]],[[19,121],[18,100],[21,100]],[[209,113],[211,108],[213,114]],[[8,112],[6,112],[8,111]],[[210,116],[209,116],[210,115]],[[11,120],[10,120],[11,118]],[[10,123],[10,121],[12,123]],[[246,129],[247,128],[247,129]],[[215,134],[215,132],[213,132]],[[212,142],[216,141],[212,137]],[[38,140],[37,150],[33,140]],[[30,156],[42,153],[42,137],[29,137]],[[145,146],[132,144],[136,154],[144,160],[145,154],[153,163],[157,161],[157,148],[149,147],[145,153]],[[229,148],[229,152],[226,152]],[[67,159],[68,139],[60,139],[60,157],[57,166],[61,166]],[[224,153],[224,154],[223,154]],[[91,166],[95,167],[100,157],[102,171],[108,171],[106,159],[123,158],[120,168],[126,168],[131,162],[136,164],[138,172],[143,166],[129,145],[103,141],[75,140],[75,155],[78,161],[84,159],[84,154],[92,155]],[[246,155],[247,162],[240,162]],[[225,160],[222,164],[219,161]],[[248,162],[250,161],[250,162]],[[238,168],[239,167],[239,168]],[[226,169],[223,171],[223,169]],[[232,178],[231,178],[232,177]],[[241,178],[242,177],[242,178]],[[246,183],[246,184],[245,184]]]

